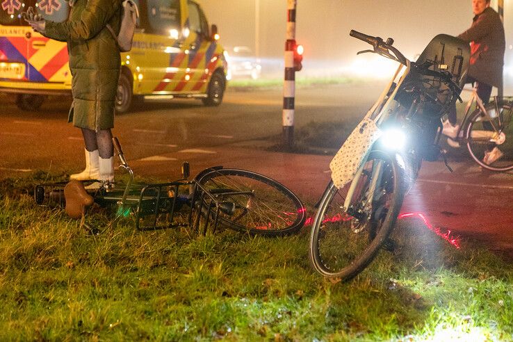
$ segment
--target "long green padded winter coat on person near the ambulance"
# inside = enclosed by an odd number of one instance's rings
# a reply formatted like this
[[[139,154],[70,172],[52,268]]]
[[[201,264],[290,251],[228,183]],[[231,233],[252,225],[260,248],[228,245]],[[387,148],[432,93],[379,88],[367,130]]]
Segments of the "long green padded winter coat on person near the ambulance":
[[[43,33],[67,42],[73,92],[68,120],[94,131],[111,129],[121,58],[106,24],[119,31],[121,1],[70,0],[70,6],[67,21],[47,21]]]

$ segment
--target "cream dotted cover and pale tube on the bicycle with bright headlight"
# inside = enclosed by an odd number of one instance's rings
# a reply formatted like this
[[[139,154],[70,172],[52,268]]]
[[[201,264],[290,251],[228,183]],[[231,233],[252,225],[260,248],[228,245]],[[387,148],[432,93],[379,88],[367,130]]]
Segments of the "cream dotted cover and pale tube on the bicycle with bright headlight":
[[[383,90],[380,98],[377,99],[374,106],[365,115],[364,119],[357,125],[357,127],[351,132],[348,139],[345,140],[342,147],[339,149],[329,163],[329,169],[332,170],[332,180],[336,188],[343,188],[345,184],[348,184],[355,178],[355,174],[360,168],[361,164],[364,163],[368,154],[371,152],[371,147],[374,142],[380,138],[382,131],[377,127],[377,122],[384,112],[388,111],[391,101],[396,96],[400,84],[405,79],[405,76],[409,72],[409,63],[406,71],[402,74],[396,88],[393,93],[389,96],[386,104],[380,109],[379,113],[373,117],[373,113],[376,108],[382,104],[382,101],[389,93],[393,81],[397,78],[399,72],[402,70],[403,65],[398,67],[396,74],[391,79],[389,85]]]

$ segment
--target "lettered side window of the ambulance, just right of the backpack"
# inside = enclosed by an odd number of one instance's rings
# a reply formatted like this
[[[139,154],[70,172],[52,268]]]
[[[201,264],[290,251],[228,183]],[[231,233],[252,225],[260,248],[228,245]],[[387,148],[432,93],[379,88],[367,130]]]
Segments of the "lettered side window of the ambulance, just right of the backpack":
[[[149,33],[169,35],[180,28],[180,1],[148,0],[147,19]]]

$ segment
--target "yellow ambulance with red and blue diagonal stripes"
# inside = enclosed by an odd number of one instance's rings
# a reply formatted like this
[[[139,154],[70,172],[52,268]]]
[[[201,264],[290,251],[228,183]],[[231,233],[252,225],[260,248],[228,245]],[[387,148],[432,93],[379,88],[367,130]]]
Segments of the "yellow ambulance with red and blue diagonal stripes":
[[[77,0],[86,1],[86,0]],[[145,97],[190,97],[218,106],[227,62],[217,26],[209,26],[192,0],[134,0],[139,18],[132,49],[121,55],[116,111]],[[64,0],[0,0],[0,92],[15,95],[24,111],[37,111],[47,95],[71,95],[65,42],[34,32],[21,13],[32,6],[44,19],[63,22]]]

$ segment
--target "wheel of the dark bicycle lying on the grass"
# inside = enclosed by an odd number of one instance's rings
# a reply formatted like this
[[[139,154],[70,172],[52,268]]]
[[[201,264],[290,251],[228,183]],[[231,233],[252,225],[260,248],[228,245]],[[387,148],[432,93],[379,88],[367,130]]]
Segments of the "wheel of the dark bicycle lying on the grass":
[[[212,170],[198,183],[219,202],[233,204],[221,212],[225,227],[249,234],[284,236],[304,225],[306,210],[300,199],[285,186],[256,172],[238,169]]]

